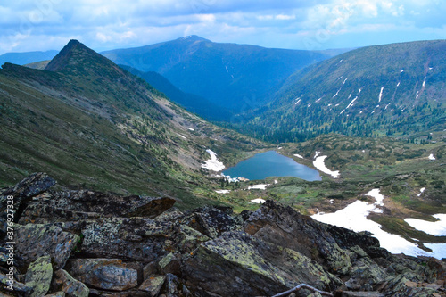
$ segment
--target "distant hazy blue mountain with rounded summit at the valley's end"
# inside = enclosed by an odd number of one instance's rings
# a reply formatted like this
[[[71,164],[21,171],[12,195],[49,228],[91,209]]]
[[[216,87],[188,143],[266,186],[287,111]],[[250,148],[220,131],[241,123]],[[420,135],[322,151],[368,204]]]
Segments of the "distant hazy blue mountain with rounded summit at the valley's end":
[[[328,58],[310,51],[219,44],[197,36],[102,54],[117,64],[158,72],[180,90],[235,111],[267,103],[294,71]]]

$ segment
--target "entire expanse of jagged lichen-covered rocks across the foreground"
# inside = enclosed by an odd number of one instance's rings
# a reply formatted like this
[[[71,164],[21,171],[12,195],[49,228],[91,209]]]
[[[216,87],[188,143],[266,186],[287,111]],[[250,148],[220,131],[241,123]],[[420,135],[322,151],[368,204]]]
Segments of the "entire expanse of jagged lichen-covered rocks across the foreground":
[[[0,297],[273,296],[300,284],[334,296],[446,296],[444,260],[392,255],[368,233],[273,201],[237,215],[181,212],[170,198],[54,185],[37,173],[1,194]]]

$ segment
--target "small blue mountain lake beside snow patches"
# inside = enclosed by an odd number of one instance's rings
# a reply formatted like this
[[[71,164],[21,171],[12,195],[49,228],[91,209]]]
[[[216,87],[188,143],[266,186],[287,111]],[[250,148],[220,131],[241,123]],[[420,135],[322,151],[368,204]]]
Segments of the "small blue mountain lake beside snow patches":
[[[315,169],[299,164],[292,158],[269,151],[258,153],[223,171],[225,176],[264,179],[266,177],[299,177],[304,180],[321,180]]]

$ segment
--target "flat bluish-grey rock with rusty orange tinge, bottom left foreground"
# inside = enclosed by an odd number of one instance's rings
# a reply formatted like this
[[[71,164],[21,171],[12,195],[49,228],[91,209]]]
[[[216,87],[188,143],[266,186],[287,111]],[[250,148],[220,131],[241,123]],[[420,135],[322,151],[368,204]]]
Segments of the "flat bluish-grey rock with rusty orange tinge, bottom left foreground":
[[[136,287],[137,271],[117,259],[75,259],[67,264],[70,275],[103,290],[125,291]]]

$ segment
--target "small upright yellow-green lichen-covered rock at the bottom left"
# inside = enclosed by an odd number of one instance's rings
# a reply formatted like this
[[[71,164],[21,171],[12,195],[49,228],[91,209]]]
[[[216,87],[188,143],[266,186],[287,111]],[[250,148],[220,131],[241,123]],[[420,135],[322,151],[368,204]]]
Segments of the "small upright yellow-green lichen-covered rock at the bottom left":
[[[43,256],[37,258],[29,265],[25,276],[25,285],[33,289],[30,297],[40,297],[48,292],[53,277],[53,266],[51,257]]]

